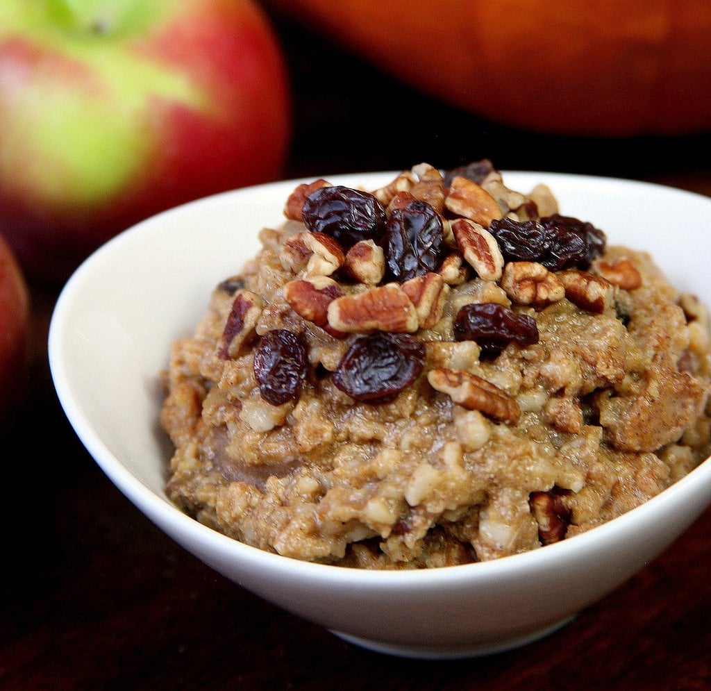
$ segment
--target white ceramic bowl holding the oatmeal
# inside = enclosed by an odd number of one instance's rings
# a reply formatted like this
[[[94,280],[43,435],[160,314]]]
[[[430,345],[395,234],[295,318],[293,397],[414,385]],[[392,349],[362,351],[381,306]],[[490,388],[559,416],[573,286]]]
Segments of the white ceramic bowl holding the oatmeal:
[[[335,176],[376,188],[395,173]],[[562,213],[612,244],[649,250],[671,281],[711,305],[711,199],[645,183],[506,172],[547,183]],[[159,431],[159,372],[192,333],[210,291],[242,268],[257,232],[282,220],[296,181],[215,195],[140,223],[97,250],[63,289],[49,355],[68,419],[107,476],[174,540],[240,586],[362,646],[422,658],[532,641],[602,598],[673,542],[711,501],[711,460],[660,496],[584,535],[493,562],[366,572],[242,545],[164,495],[171,450]],[[673,592],[669,594],[673,597]]]

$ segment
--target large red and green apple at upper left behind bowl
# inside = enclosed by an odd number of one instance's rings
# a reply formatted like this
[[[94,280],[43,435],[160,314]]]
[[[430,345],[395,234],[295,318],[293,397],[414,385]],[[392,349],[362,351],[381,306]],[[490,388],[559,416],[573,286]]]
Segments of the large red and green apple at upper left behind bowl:
[[[149,215],[279,176],[289,106],[251,0],[0,0],[0,232],[63,280]]]

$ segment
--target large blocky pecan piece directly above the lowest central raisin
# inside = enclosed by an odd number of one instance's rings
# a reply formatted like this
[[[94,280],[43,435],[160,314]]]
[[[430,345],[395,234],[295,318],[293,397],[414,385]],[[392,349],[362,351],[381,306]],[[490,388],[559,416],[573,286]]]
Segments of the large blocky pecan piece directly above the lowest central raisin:
[[[328,305],[328,324],[336,331],[415,333],[415,305],[398,284],[388,283],[359,295],[344,295]]]

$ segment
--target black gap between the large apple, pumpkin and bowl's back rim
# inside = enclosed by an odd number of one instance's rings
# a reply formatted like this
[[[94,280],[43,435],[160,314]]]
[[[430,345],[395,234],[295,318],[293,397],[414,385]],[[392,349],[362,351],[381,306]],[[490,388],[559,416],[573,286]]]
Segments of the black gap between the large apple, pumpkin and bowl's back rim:
[[[609,123],[607,134],[514,127],[487,117],[486,112],[472,112],[433,97],[363,57],[364,51],[346,48],[333,32],[319,31],[284,9],[272,7],[271,11],[294,90],[287,177],[401,170],[420,159],[449,168],[486,157],[504,170],[618,176],[669,181],[698,191],[710,189],[705,179],[708,153],[704,152],[711,151],[711,112],[706,127],[684,134],[639,129],[634,134],[613,135],[614,122]],[[442,47],[451,60],[456,59],[456,50],[455,46]],[[663,59],[663,53],[658,58]],[[711,44],[707,58],[711,58]],[[573,79],[572,71],[567,77]],[[709,88],[711,73],[706,71],[697,89],[700,94]],[[655,94],[649,108],[665,97]],[[455,100],[456,92],[450,98]],[[530,108],[535,107],[531,102]],[[563,102],[560,109],[565,120],[569,105]],[[634,121],[624,112],[619,117],[621,122]],[[566,126],[575,125],[570,114]],[[673,131],[673,122],[668,128]]]

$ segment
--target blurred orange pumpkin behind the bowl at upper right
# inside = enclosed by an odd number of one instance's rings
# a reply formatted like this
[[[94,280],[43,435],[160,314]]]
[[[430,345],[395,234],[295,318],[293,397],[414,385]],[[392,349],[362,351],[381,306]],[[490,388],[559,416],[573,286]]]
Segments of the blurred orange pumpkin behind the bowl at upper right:
[[[271,0],[429,95],[553,134],[711,129],[708,0]]]

